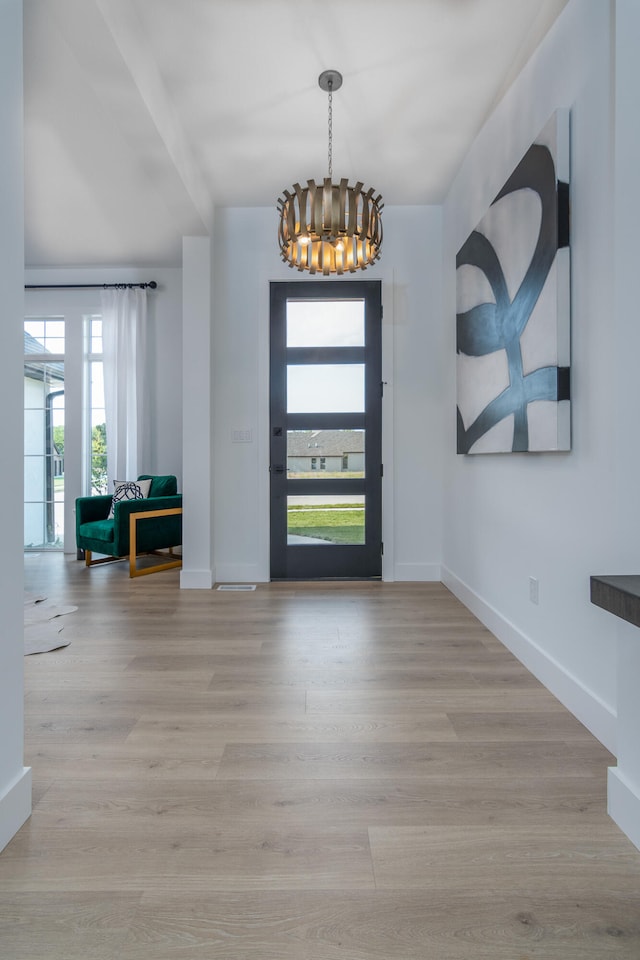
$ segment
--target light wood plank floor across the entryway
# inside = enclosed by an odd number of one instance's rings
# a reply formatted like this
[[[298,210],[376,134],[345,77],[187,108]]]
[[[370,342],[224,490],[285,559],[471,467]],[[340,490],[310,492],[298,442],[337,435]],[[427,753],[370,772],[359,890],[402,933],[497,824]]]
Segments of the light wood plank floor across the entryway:
[[[638,960],[611,755],[440,584],[25,561],[2,960]]]

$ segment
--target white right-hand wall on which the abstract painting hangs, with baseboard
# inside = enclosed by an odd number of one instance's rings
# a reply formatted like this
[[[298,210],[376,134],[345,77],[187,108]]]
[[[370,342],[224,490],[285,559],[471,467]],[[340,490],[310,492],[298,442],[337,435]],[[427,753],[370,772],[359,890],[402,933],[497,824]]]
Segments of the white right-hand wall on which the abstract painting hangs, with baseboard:
[[[444,206],[443,559],[451,588],[614,748],[614,625],[590,604],[589,577],[636,572],[639,531],[635,510],[618,536],[613,505],[619,490],[626,507],[633,501],[616,476],[610,44],[609,4],[571,0],[480,132]],[[572,451],[456,456],[456,251],[558,107],[571,109]]]

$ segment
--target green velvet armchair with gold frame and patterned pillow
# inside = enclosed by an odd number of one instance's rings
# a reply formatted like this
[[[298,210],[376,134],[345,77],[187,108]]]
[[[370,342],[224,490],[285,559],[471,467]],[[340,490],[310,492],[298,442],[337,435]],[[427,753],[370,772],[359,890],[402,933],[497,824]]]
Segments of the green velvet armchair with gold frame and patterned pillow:
[[[114,503],[111,518],[111,496],[76,500],[76,544],[88,567],[128,559],[129,576],[139,577],[182,566],[181,557],[173,552],[182,543],[182,494],[176,478],[141,474],[138,480],[151,480],[148,497]],[[93,553],[101,554],[100,559],[94,560]],[[140,568],[136,557],[141,554],[168,559]]]

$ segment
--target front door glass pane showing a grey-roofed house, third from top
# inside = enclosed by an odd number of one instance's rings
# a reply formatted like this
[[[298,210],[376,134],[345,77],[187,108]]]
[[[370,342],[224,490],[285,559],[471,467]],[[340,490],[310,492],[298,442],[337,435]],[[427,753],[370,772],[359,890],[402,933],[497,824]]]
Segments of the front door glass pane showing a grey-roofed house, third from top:
[[[360,480],[364,477],[364,430],[287,431],[290,480]]]

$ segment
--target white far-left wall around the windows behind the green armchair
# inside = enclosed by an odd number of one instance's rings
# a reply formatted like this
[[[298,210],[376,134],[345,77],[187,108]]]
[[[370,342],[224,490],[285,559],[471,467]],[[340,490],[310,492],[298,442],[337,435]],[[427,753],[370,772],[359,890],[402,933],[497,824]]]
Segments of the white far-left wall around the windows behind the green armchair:
[[[147,295],[149,347],[149,417],[150,462],[145,473],[173,473],[182,483],[182,270],[179,268],[145,269],[102,267],[78,269],[32,269],[25,271],[27,284],[142,283],[155,280],[157,290]],[[100,290],[27,290],[25,314],[30,316],[63,316],[67,321],[67,355],[65,370],[69,386],[78,383],[70,377],[73,367],[82,365],[82,319],[100,313]],[[74,432],[81,429],[74,417],[80,417],[81,396],[67,393],[65,417]],[[70,430],[71,432],[71,430]],[[74,469],[79,453],[65,450],[65,479],[79,475]],[[71,459],[69,459],[71,458]],[[67,500],[73,503],[82,494],[80,489],[67,489]],[[70,515],[71,521],[73,518]],[[65,521],[65,552],[75,552],[75,530]]]

